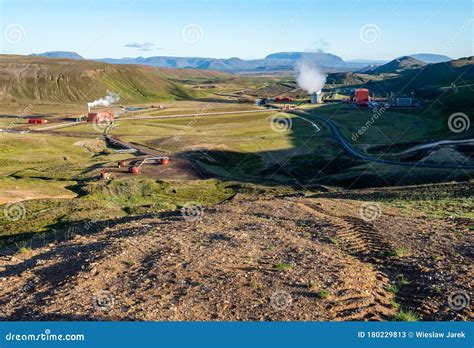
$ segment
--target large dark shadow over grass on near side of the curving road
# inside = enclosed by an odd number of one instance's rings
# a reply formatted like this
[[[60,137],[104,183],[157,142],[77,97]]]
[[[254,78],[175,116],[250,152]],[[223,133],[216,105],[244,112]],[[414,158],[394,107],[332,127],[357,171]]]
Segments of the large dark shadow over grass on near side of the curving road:
[[[281,122],[270,124],[276,131],[289,123],[285,114]],[[319,130],[308,122],[293,117],[287,150],[241,153],[221,150],[199,150],[182,153],[204,174],[222,180],[236,180],[263,185],[285,184],[298,189],[314,185],[338,186],[346,189],[392,187],[465,181],[474,171],[465,169],[414,168],[382,164],[352,157],[333,139],[329,129],[315,120]],[[258,146],[258,139],[256,139]]]

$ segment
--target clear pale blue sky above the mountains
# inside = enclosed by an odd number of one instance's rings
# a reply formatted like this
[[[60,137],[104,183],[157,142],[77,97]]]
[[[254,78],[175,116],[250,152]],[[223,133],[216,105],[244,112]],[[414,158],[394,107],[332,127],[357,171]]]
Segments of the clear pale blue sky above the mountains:
[[[1,51],[86,58],[473,55],[472,0],[0,0]]]

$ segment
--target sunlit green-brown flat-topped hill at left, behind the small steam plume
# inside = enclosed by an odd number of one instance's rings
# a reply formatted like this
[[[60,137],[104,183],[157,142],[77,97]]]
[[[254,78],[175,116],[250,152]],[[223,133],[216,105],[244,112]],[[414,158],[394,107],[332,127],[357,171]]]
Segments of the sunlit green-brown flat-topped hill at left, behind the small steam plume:
[[[0,86],[3,102],[88,102],[110,90],[121,101],[136,103],[185,99],[192,93],[163,69],[17,55],[0,55]]]

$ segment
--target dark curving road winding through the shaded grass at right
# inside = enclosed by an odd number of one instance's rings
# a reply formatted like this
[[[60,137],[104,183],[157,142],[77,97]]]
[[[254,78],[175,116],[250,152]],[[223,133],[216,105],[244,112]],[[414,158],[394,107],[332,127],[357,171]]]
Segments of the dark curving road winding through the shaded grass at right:
[[[302,110],[293,109],[293,110],[287,110],[286,112],[289,114],[296,115],[302,120],[309,122],[313,127],[319,128],[316,123],[314,123],[313,121],[311,121],[310,119],[306,117],[316,118],[319,122],[321,122],[323,125],[325,125],[331,130],[331,134],[333,138],[337,140],[339,145],[341,145],[341,147],[344,149],[344,151],[347,154],[349,154],[351,157],[354,157],[363,161],[392,164],[392,165],[398,165],[398,166],[409,166],[409,167],[474,170],[474,166],[463,166],[463,165],[456,165],[456,164],[419,163],[419,162],[410,163],[410,162],[393,161],[393,160],[386,160],[386,159],[373,157],[354,148],[352,144],[349,142],[349,140],[347,140],[347,138],[344,137],[344,135],[342,134],[338,126],[333,121],[323,118],[321,116],[317,116],[315,114],[310,114]]]

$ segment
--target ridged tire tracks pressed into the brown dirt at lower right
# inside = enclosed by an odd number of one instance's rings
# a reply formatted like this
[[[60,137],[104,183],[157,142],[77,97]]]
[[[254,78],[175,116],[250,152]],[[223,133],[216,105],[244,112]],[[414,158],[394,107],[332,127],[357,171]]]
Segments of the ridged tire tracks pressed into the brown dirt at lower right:
[[[339,248],[368,267],[376,269],[379,281],[384,283],[382,293],[389,292],[395,303],[404,311],[415,311],[422,315],[424,320],[454,318],[456,313],[447,311],[446,303],[440,301],[443,296],[435,292],[434,284],[438,281],[429,262],[420,262],[417,257],[398,256],[397,249],[394,248],[400,243],[397,243],[396,235],[391,234],[392,228],[387,226],[387,221],[382,218],[377,220],[380,225],[374,225],[358,218],[358,204],[338,201],[334,205],[326,200],[322,200],[322,203],[318,200],[305,200],[300,206],[336,227],[332,236],[337,239],[335,242]],[[391,215],[390,212],[386,213]],[[390,219],[393,220],[397,216],[391,215]],[[414,226],[407,228],[416,231]],[[403,231],[393,231],[403,234]],[[326,238],[330,239],[328,236]],[[434,298],[437,300],[433,301]]]

